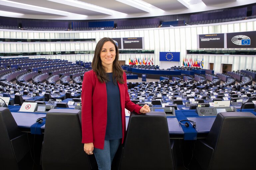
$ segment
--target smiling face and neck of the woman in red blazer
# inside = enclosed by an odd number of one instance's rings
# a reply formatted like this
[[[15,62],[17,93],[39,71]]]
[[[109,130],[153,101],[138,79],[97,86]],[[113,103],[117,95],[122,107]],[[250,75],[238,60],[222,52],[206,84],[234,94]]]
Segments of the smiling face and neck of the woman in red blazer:
[[[105,42],[100,55],[102,65],[108,68],[108,72],[112,72],[113,62],[116,58],[115,45],[110,41]]]

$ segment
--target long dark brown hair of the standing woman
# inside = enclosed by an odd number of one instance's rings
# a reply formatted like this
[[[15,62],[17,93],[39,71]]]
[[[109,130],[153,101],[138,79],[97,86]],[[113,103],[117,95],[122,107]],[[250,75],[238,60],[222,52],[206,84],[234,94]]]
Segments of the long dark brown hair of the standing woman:
[[[113,80],[114,80],[114,82],[118,81],[119,83],[124,84],[124,79],[123,79],[124,70],[118,63],[118,60],[119,60],[118,47],[117,47],[116,43],[111,38],[104,37],[97,43],[97,45],[95,47],[93,61],[92,61],[92,69],[94,72],[96,72],[96,75],[100,82],[103,83],[103,82],[109,81],[107,73],[106,73],[106,67],[104,67],[102,65],[102,61],[101,61],[102,47],[103,47],[104,43],[108,42],[108,41],[112,42],[116,48],[116,58],[113,61]]]

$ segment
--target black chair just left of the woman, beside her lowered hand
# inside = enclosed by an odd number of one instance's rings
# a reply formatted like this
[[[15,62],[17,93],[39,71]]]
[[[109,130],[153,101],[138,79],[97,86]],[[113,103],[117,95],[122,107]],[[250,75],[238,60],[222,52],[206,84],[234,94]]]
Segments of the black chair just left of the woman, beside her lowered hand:
[[[94,169],[94,155],[88,156],[85,153],[81,141],[81,111],[51,109],[46,115],[42,149],[43,170]]]

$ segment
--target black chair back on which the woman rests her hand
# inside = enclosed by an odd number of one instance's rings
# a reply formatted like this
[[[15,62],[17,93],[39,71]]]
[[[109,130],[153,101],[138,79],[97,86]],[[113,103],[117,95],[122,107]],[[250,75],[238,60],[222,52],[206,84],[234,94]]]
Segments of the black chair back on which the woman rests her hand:
[[[157,155],[152,151],[155,146],[159,152]],[[173,150],[174,141],[170,141],[164,112],[139,115],[132,112],[128,122],[120,170],[175,169]]]

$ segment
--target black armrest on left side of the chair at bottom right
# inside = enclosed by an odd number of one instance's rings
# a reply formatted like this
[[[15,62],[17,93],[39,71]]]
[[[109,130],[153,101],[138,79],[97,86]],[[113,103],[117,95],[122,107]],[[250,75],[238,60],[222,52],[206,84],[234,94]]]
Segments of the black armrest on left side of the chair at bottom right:
[[[209,146],[204,140],[199,139],[196,141],[194,150],[194,155],[197,162],[202,167],[202,169],[207,170],[210,167],[214,149],[211,146]]]

